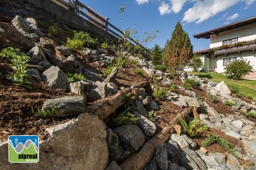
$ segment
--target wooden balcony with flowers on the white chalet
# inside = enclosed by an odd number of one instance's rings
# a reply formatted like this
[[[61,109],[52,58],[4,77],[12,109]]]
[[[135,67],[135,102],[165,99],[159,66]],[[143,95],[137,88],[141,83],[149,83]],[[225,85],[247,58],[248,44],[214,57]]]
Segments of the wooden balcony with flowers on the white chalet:
[[[214,56],[218,56],[218,55],[227,55],[227,54],[231,54],[231,53],[241,53],[242,51],[250,51],[252,50],[253,53],[256,49],[256,42],[247,42],[246,44],[242,44],[242,45],[232,45],[228,48],[218,48],[216,50],[214,50]]]

